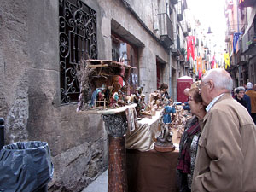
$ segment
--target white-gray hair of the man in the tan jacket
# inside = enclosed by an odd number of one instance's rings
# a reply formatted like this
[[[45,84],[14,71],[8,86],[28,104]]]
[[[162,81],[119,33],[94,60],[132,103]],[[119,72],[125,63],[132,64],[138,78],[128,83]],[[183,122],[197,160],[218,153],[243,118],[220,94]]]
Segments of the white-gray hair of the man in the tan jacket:
[[[230,93],[233,89],[233,79],[230,77],[230,73],[222,68],[214,68],[207,71],[202,81],[206,82],[207,80],[212,80],[217,89],[226,89],[229,90]]]

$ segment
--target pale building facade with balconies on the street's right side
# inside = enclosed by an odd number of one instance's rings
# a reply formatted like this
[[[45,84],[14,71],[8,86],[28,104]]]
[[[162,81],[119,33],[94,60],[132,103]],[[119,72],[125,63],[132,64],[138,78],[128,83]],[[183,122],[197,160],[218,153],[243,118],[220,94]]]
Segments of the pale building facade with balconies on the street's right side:
[[[243,86],[247,82],[256,84],[256,2],[226,1],[225,16],[226,49],[230,54],[228,71],[235,82],[234,86]]]

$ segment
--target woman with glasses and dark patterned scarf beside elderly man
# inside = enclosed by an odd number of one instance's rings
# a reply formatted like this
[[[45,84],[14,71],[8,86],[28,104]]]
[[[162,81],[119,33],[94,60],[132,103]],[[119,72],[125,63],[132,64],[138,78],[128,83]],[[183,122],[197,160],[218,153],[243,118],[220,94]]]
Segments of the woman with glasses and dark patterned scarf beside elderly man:
[[[198,140],[201,135],[202,119],[207,113],[206,107],[202,102],[200,90],[197,86],[190,89],[188,95],[190,112],[193,114],[193,117],[187,121],[179,143],[177,186],[180,192],[191,191],[195,156]]]

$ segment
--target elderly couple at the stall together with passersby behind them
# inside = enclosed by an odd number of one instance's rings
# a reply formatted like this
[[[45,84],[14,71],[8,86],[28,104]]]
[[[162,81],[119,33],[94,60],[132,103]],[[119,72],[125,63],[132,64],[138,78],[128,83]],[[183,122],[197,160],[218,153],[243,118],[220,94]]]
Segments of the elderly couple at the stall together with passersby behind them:
[[[230,74],[218,68],[185,90],[193,117],[179,145],[180,192],[256,191],[255,89],[248,82],[233,90]]]

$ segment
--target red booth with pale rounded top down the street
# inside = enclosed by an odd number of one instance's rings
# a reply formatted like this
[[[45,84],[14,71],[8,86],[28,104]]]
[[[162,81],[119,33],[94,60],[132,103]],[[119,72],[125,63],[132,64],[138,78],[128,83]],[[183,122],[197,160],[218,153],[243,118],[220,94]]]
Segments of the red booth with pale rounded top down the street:
[[[177,102],[188,102],[188,96],[184,94],[186,88],[190,88],[193,79],[189,76],[183,76],[177,79]]]

